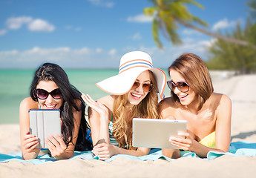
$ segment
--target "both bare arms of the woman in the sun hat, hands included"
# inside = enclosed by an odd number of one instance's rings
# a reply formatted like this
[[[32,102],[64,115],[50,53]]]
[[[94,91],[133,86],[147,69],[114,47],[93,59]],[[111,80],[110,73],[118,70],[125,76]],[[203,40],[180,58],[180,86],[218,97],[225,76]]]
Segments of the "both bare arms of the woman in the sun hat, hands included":
[[[133,156],[142,156],[148,154],[150,148],[138,148],[137,151],[119,148],[110,144],[108,124],[111,120],[111,103],[114,100],[111,96],[105,96],[97,102],[90,96],[82,94],[82,99],[90,106],[88,109],[89,121],[91,125],[91,134],[93,139],[93,154],[105,160],[116,154],[129,154]],[[108,108],[107,108],[108,106]]]

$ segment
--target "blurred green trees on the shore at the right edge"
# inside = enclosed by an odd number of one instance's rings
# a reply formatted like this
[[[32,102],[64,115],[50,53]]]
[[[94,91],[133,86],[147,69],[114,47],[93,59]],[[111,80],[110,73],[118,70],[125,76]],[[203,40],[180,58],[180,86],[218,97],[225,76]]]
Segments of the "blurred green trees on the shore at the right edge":
[[[237,24],[236,29],[232,33],[226,33],[226,36],[242,39],[249,42],[248,46],[241,46],[225,42],[217,39],[211,47],[209,47],[209,58],[206,62],[209,69],[228,69],[235,70],[237,73],[255,73],[256,72],[256,24],[252,24],[248,18],[246,27],[242,29]]]

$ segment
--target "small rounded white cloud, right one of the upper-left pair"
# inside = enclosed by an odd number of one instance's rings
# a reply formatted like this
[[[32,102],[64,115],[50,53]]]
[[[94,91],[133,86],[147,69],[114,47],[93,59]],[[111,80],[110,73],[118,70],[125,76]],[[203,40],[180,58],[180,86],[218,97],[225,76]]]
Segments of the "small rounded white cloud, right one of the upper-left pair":
[[[27,25],[28,29],[31,31],[43,31],[43,32],[52,32],[55,30],[53,24],[49,24],[47,21],[42,19],[35,19],[30,24]]]

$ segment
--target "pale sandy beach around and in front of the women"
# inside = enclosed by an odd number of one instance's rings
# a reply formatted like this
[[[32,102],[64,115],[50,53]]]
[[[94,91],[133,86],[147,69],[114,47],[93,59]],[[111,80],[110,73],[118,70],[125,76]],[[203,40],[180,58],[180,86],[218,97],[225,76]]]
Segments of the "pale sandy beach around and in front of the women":
[[[256,142],[256,75],[214,71],[214,91],[232,99],[232,142]],[[0,125],[0,154],[18,153],[19,125]],[[0,163],[0,177],[256,177],[256,156],[220,156],[214,160],[183,157],[137,161],[117,158],[60,160],[42,165]]]

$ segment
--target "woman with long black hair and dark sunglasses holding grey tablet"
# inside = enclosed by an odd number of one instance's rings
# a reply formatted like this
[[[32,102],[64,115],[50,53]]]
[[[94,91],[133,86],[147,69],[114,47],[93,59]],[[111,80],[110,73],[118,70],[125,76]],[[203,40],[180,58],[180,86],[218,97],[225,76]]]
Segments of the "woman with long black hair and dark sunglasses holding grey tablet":
[[[38,138],[30,134],[30,109],[59,109],[62,120],[62,137],[50,136],[47,148],[55,159],[68,159],[74,151],[92,149],[87,139],[88,123],[85,120],[85,103],[79,90],[70,85],[62,67],[52,63],[40,66],[30,86],[30,97],[23,99],[19,109],[22,157],[34,159],[39,155]]]

